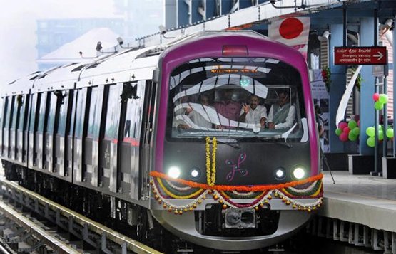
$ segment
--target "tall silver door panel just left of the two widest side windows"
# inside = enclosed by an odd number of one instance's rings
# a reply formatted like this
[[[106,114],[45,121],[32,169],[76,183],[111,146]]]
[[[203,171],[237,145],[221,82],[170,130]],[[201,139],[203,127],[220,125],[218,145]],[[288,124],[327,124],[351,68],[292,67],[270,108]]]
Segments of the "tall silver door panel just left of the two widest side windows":
[[[76,101],[76,122],[73,135],[73,180],[77,182],[85,181],[86,168],[83,165],[83,138],[86,137],[86,122],[85,118],[88,112],[88,88],[81,88],[77,90]]]

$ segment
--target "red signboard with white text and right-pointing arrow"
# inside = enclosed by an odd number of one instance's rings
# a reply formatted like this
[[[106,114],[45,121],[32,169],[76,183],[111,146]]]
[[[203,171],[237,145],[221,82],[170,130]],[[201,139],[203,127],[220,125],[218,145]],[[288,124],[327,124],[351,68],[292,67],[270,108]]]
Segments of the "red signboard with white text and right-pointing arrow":
[[[386,64],[386,47],[334,47],[334,65]]]

